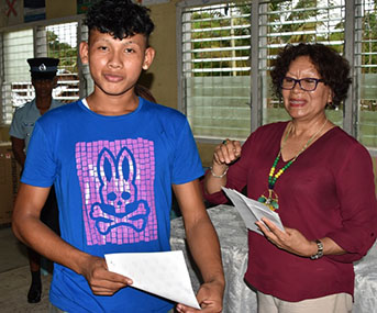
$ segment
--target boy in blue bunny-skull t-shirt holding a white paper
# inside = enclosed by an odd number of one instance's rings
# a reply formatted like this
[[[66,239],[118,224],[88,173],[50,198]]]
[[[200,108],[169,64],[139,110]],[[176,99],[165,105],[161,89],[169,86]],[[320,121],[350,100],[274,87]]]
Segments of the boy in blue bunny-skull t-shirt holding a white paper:
[[[215,231],[198,178],[203,174],[186,118],[135,96],[154,58],[148,10],[126,0],[93,4],[86,19],[95,91],[45,114],[35,125],[13,230],[54,260],[49,299],[68,312],[167,312],[173,304],[131,288],[107,269],[107,253],[169,250],[171,186],[204,283],[202,312],[221,312],[224,277]],[[55,185],[62,238],[38,220]],[[178,304],[179,312],[196,310]]]

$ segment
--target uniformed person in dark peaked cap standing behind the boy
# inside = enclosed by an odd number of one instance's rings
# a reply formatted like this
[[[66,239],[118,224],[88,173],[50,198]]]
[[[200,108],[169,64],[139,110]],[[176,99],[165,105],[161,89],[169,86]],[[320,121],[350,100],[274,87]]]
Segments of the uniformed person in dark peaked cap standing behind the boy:
[[[14,158],[21,168],[25,165],[26,150],[34,124],[48,110],[58,108],[64,103],[53,98],[53,90],[57,86],[57,65],[59,59],[52,57],[29,58],[32,85],[35,90],[35,98],[15,110],[12,124],[9,131]],[[42,209],[41,220],[59,233],[58,210],[55,192],[52,189],[45,205]],[[37,303],[41,301],[41,256],[32,248],[27,248],[32,282],[27,292],[27,302]]]

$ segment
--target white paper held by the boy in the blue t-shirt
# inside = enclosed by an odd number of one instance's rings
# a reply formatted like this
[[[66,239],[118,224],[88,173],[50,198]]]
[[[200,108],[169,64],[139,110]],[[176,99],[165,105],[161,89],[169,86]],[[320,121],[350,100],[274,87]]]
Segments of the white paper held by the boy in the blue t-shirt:
[[[110,271],[133,280],[131,287],[199,309],[181,250],[104,255]]]

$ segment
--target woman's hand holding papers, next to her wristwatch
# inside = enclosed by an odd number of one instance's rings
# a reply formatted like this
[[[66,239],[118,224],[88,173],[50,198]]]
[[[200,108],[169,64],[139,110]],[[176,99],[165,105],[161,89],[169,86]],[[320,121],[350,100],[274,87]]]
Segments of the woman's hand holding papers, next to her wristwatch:
[[[317,253],[315,242],[308,241],[298,230],[285,227],[285,232],[282,232],[268,219],[263,217],[262,221],[255,224],[278,248],[302,257],[310,257]]]

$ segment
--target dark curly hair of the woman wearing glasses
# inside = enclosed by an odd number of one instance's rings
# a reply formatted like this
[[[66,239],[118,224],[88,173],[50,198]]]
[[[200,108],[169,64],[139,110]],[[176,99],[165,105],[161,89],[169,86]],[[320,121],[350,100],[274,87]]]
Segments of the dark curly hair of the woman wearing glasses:
[[[281,81],[286,77],[290,64],[299,56],[309,56],[324,83],[333,92],[333,105],[339,105],[347,97],[350,78],[350,64],[334,49],[322,44],[287,45],[274,62],[270,72],[273,90],[281,97]]]

